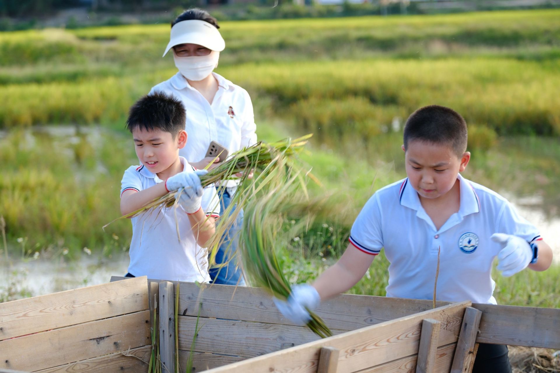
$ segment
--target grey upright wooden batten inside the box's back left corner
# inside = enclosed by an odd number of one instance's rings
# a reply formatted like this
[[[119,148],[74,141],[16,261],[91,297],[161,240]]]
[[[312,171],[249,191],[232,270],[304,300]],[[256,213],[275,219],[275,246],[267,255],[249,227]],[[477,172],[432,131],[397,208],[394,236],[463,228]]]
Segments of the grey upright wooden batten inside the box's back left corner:
[[[173,284],[160,282],[159,330],[161,371],[175,371],[175,301]],[[223,330],[222,330],[223,332]]]

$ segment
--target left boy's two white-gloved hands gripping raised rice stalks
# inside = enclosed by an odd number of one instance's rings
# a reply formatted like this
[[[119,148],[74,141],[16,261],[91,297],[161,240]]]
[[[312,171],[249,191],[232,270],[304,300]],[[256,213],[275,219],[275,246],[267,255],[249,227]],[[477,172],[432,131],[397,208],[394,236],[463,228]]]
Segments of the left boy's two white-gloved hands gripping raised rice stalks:
[[[179,204],[188,214],[194,214],[200,209],[202,202],[202,184],[200,176],[208,173],[206,169],[198,169],[197,171],[183,171],[171,176],[165,182],[167,191],[174,191],[180,188]]]

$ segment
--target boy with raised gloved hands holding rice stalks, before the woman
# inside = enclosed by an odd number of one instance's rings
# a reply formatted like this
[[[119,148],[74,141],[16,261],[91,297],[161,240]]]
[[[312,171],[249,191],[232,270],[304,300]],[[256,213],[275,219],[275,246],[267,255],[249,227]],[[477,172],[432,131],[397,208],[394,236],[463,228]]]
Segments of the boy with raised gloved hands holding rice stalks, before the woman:
[[[196,170],[179,156],[187,143],[183,103],[159,92],[144,96],[130,108],[127,128],[140,165],[124,172],[121,213],[130,214],[157,197],[183,189],[176,208],[161,207],[131,219],[127,276],[208,282],[208,255],[203,248],[214,234],[220,204],[216,188],[200,184],[207,171]]]

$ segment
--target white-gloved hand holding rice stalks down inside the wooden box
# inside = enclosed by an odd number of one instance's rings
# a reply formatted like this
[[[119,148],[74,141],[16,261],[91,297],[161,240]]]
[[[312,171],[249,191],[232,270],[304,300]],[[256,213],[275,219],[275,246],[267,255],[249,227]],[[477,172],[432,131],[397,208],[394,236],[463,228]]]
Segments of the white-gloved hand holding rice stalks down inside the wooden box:
[[[294,286],[287,301],[274,298],[274,304],[282,315],[298,325],[305,325],[311,320],[306,308],[312,311],[320,302],[321,297],[315,287],[307,284]]]

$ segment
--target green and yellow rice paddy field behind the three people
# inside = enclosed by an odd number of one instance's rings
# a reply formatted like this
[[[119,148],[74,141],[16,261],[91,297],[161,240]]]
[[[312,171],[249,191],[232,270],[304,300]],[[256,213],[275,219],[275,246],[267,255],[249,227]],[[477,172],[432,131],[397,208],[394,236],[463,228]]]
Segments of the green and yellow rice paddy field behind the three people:
[[[259,138],[314,133],[303,159],[344,202],[278,243],[290,280],[311,280],[340,256],[371,193],[405,176],[404,120],[430,103],[469,123],[465,176],[543,224],[560,257],[559,19],[558,10],[535,10],[222,22],[216,71],[248,89]],[[128,108],[176,72],[170,55],[161,58],[169,30],[0,33],[0,260],[12,279],[0,300],[41,291],[21,285],[31,275],[18,268],[33,261],[72,266],[91,254],[125,273],[129,222],[101,227],[119,216],[120,179],[138,162]],[[377,258],[352,292],[384,295],[387,266]],[[498,303],[560,306],[558,263],[494,278]]]

